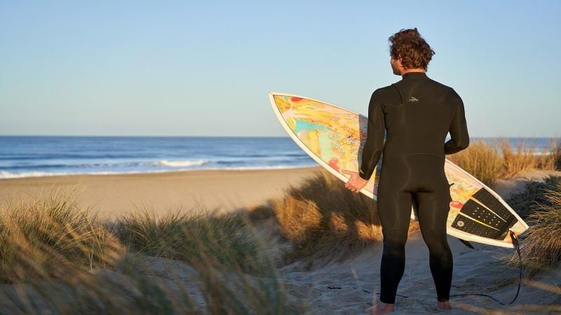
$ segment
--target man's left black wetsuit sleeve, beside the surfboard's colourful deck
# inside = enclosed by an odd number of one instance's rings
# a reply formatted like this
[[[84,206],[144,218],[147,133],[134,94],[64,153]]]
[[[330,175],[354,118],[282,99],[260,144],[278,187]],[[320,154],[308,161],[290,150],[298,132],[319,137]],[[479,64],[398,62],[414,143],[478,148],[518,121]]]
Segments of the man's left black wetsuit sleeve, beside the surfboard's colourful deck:
[[[386,123],[384,111],[382,111],[379,97],[376,97],[376,94],[376,91],[372,93],[370,104],[368,104],[367,135],[363,148],[363,161],[360,164],[359,171],[359,176],[362,179],[370,179],[384,149]]]

